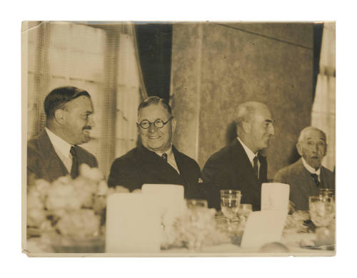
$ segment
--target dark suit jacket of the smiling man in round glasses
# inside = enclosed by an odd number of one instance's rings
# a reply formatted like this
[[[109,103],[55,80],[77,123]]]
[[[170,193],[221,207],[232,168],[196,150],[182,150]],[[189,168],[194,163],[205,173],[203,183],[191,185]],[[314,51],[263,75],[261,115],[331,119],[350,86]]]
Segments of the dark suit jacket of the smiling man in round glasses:
[[[140,145],[114,160],[108,180],[109,187],[121,185],[132,191],[141,189],[145,183],[183,185],[186,198],[196,197],[198,180],[201,179],[198,164],[174,146],[172,151],[180,175],[159,155]]]

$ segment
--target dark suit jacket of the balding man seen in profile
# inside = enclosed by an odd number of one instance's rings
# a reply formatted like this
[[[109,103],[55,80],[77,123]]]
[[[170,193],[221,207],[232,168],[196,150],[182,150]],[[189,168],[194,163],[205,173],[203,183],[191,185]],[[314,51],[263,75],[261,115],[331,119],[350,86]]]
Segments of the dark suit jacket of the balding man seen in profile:
[[[261,183],[267,182],[266,158],[258,155],[261,166],[259,180],[254,174],[246,151],[236,139],[208,158],[203,168],[203,197],[210,207],[221,207],[219,190],[241,190],[241,203],[251,204],[253,210],[261,209]]]

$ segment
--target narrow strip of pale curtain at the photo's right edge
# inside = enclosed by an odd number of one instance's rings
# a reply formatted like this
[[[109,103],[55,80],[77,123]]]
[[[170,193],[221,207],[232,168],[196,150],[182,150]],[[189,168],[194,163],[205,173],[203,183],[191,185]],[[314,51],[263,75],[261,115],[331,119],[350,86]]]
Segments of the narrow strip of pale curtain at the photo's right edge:
[[[311,125],[327,136],[327,155],[323,166],[334,170],[336,163],[336,24],[323,24],[320,71],[318,73]]]

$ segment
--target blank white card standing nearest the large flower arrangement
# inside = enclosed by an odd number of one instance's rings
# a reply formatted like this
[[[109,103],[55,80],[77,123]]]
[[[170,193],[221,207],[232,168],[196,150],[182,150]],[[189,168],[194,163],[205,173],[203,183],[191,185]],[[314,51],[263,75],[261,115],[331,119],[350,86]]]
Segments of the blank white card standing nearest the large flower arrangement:
[[[106,252],[160,252],[161,220],[155,200],[142,193],[114,193],[106,205]]]

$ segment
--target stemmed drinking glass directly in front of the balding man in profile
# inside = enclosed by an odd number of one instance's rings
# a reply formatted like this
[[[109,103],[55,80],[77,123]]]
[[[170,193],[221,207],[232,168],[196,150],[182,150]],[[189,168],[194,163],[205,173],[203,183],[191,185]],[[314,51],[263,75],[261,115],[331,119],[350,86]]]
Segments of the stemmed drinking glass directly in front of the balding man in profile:
[[[228,219],[228,230],[231,230],[232,221],[237,219],[241,196],[239,190],[221,190],[221,210]]]

